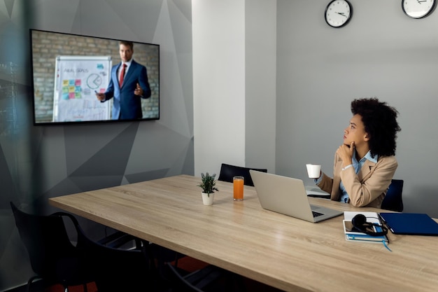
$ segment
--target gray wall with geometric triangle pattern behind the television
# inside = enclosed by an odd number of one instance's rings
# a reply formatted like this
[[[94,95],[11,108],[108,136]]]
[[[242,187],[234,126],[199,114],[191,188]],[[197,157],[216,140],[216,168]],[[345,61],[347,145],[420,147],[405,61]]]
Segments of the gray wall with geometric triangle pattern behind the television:
[[[48,214],[49,197],[193,174],[191,18],[190,0],[0,6],[0,291],[33,274],[9,201]],[[160,44],[160,120],[33,126],[29,28]],[[99,225],[81,224],[104,235]]]

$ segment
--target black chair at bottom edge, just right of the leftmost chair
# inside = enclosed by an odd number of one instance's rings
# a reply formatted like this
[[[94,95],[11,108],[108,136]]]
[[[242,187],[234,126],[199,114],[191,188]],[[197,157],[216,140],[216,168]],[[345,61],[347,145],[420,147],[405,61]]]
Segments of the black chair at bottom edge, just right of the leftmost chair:
[[[87,258],[87,272],[99,292],[156,291],[157,273],[149,246],[115,249],[99,244],[78,227],[78,246]]]

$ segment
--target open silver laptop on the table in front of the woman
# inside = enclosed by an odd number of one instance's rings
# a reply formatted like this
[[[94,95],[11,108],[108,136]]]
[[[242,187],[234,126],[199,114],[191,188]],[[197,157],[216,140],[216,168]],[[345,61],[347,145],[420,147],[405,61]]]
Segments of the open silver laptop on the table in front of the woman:
[[[250,175],[263,209],[313,223],[344,214],[344,211],[309,204],[301,179],[257,172],[253,169],[250,170]]]

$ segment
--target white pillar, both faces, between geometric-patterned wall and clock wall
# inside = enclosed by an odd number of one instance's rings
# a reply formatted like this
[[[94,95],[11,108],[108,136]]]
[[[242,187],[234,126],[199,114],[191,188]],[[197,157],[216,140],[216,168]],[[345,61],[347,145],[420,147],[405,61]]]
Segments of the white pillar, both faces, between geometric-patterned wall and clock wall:
[[[195,175],[273,172],[276,1],[193,0],[192,15]]]

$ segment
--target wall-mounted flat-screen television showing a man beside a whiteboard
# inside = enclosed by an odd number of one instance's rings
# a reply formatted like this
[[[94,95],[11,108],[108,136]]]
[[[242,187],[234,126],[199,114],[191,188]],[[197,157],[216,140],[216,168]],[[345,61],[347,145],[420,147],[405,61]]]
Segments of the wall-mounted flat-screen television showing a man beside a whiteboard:
[[[30,39],[34,125],[160,119],[160,45],[38,29]]]

